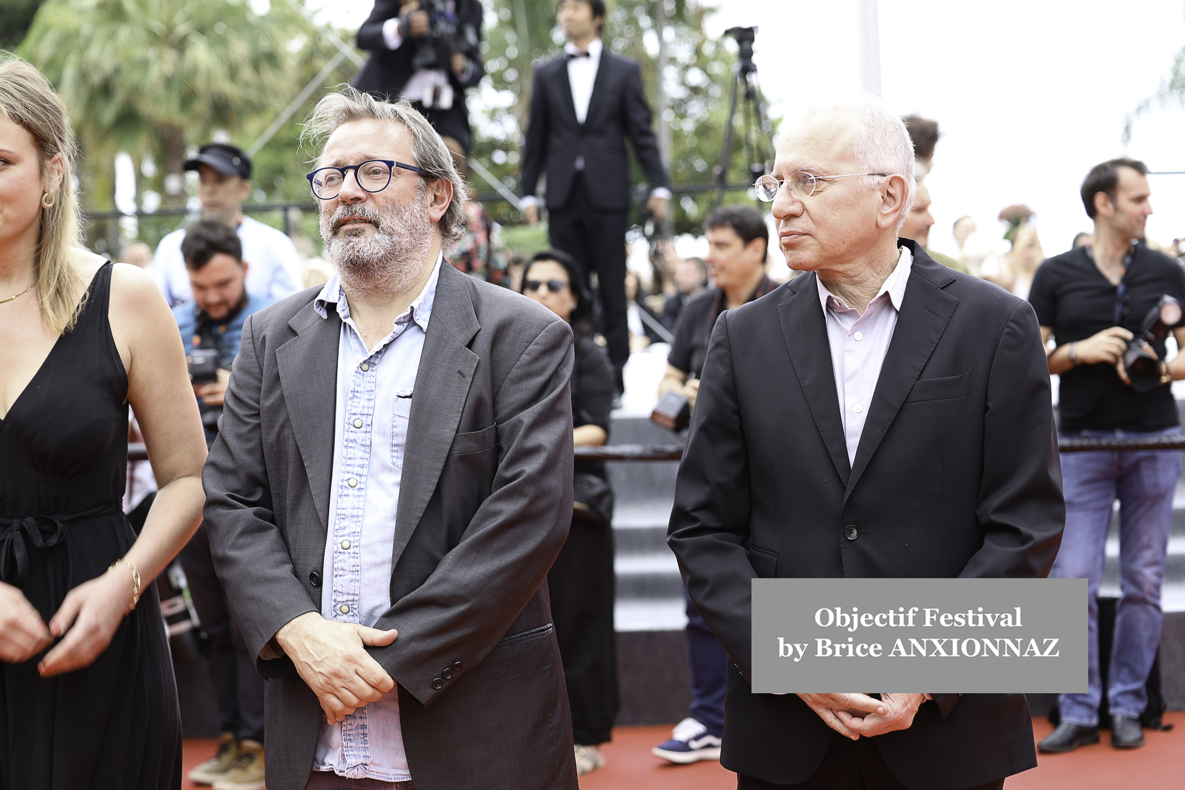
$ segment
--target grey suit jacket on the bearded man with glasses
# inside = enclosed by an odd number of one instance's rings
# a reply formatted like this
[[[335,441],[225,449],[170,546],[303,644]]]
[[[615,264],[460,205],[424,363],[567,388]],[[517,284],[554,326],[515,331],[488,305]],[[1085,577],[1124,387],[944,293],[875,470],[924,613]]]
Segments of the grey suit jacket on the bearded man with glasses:
[[[256,656],[321,608],[341,321],[316,314],[318,291],[248,320],[203,475],[214,564]],[[441,266],[408,428],[392,605],[376,624],[399,637],[369,648],[399,686],[419,790],[577,786],[545,582],[572,513],[571,371],[566,323]],[[324,714],[286,656],[258,666],[268,786],[299,790]]]

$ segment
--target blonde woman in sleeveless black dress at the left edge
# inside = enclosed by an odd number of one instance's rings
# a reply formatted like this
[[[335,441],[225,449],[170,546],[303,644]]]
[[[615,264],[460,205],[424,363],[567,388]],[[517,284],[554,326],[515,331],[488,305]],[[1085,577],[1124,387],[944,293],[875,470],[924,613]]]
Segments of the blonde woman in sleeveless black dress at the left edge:
[[[72,153],[45,78],[0,63],[0,786],[180,788],[152,579],[198,526],[205,442],[152,280],[78,246]],[[160,486],[139,538],[129,404]]]

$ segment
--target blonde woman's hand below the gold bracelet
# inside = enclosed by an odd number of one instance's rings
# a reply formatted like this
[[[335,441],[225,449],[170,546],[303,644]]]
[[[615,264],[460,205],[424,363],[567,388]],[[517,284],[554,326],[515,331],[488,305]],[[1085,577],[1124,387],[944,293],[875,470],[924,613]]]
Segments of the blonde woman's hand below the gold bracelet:
[[[50,634],[65,635],[37,664],[41,677],[89,667],[107,649],[132,604],[132,570],[118,564],[66,593],[50,619]]]

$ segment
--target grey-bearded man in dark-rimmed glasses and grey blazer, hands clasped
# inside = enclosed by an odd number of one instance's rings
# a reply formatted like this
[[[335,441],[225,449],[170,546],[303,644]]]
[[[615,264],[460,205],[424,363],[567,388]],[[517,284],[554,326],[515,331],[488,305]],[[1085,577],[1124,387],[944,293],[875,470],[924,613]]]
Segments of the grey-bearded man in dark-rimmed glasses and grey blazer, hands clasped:
[[[203,481],[268,784],[576,790],[571,329],[448,265],[466,186],[409,103],[331,94],[306,136],[337,274],[248,320]]]

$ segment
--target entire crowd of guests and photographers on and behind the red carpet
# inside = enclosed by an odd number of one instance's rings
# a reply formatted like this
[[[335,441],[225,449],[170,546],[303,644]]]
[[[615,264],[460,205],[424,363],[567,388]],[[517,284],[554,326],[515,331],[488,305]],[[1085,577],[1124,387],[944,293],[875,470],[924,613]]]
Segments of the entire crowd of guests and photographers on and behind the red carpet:
[[[177,563],[222,732],[191,781],[576,788],[606,764],[620,693],[614,494],[575,448],[609,441],[643,336],[670,339],[655,397],[692,424],[668,538],[692,705],[655,756],[722,759],[741,788],[986,790],[1036,765],[1023,695],[750,694],[755,576],[1087,578],[1088,691],[1037,747],[1097,741],[1101,709],[1114,746],[1142,745],[1180,454],[1059,456],[1056,437],[1180,433],[1185,355],[1165,360],[1185,270],[1144,239],[1145,165],[1089,171],[1094,230],[1068,252],[1044,259],[1018,205],[1010,249],[963,217],[946,256],[937,124],[819,108],[754,185],[776,235],[752,205],[717,207],[707,252],[665,250],[648,297],[627,270],[626,143],[658,219],[671,185],[640,71],[602,43],[602,0],[561,0],[521,179],[550,248],[494,265],[467,181],[481,5],[441,8],[379,0],[359,84],[306,122],[320,278],[243,214],[252,162],[229,143],[185,162],[199,219],[130,245],[132,265],[85,251],[66,108],[0,64],[0,784],[179,786],[153,584]],[[447,57],[425,43],[441,25]],[[937,500],[903,496],[920,480]]]

